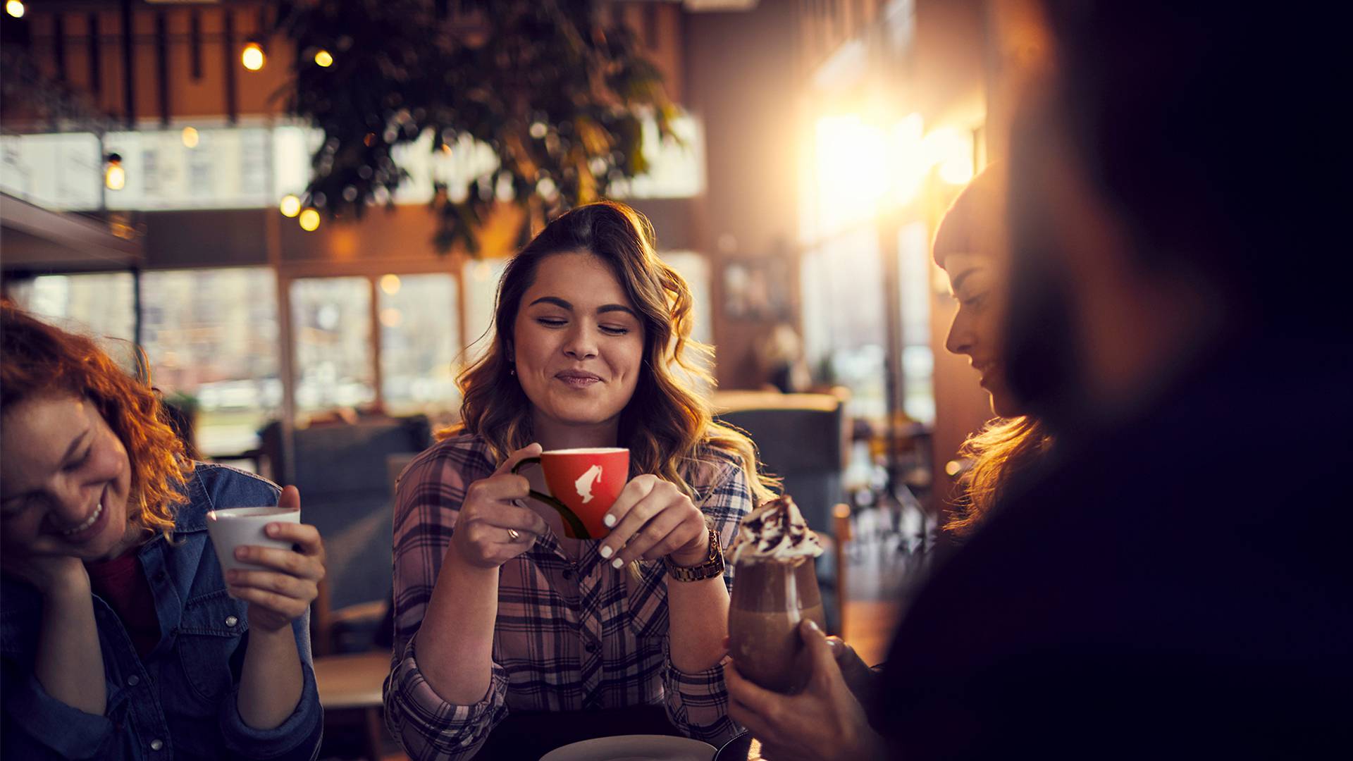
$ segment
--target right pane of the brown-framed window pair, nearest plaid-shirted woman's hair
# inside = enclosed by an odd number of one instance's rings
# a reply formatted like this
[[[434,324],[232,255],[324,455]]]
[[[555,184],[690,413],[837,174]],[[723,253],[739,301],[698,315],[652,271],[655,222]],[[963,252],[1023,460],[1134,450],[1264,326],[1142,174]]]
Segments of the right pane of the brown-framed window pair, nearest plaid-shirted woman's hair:
[[[460,404],[460,326],[451,275],[386,275],[376,290],[380,390],[391,414],[436,414]]]

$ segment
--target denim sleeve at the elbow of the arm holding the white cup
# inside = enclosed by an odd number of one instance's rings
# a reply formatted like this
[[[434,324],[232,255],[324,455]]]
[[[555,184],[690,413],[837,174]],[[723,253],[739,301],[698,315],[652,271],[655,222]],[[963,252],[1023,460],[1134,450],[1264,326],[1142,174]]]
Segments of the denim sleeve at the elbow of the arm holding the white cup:
[[[291,622],[300,654],[300,700],[287,719],[271,730],[256,730],[239,715],[239,685],[221,704],[221,735],[226,752],[234,758],[268,758],[308,761],[319,752],[323,735],[323,708],[315,685],[314,658],[310,651],[310,612]]]

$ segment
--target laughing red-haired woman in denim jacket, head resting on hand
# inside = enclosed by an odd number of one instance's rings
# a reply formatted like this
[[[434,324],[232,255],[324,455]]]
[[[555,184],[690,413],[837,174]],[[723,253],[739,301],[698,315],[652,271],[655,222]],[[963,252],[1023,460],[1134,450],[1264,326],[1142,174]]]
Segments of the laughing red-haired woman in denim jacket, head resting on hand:
[[[295,550],[239,547],[262,567],[222,574],[207,512],[277,487],[188,459],[156,393],[87,337],[4,302],[0,349],[0,756],[314,757],[315,528],[268,524]]]

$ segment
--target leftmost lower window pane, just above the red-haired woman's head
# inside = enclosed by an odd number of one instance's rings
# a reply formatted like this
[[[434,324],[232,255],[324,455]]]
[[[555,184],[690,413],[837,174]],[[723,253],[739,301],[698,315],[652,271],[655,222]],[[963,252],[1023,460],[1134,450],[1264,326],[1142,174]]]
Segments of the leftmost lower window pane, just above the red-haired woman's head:
[[[65,329],[135,340],[135,286],[130,272],[41,275],[8,288],[19,306]]]

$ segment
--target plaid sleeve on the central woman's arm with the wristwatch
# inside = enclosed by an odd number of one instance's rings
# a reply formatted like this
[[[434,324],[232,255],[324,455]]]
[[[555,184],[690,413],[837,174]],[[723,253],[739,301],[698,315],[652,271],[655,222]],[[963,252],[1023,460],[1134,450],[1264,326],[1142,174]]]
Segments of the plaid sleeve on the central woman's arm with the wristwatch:
[[[736,463],[724,466],[713,487],[700,505],[701,512],[718,532],[724,547],[733,540],[743,517],[751,512],[752,493],[747,474]],[[668,584],[679,584],[668,580]],[[733,565],[724,569],[724,584],[733,590]],[[687,737],[702,739],[716,747],[741,731],[728,716],[728,687],[724,665],[716,664],[702,672],[682,672],[671,661],[671,635],[663,643],[666,669],[663,692],[667,697],[667,718]]]

